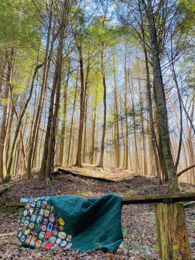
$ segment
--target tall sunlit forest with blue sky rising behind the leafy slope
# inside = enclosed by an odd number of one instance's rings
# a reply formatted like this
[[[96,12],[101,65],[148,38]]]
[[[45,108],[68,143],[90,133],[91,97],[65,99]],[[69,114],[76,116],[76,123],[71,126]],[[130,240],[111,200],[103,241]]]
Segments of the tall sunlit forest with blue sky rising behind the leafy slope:
[[[2,184],[82,164],[195,184],[193,1],[0,3]]]

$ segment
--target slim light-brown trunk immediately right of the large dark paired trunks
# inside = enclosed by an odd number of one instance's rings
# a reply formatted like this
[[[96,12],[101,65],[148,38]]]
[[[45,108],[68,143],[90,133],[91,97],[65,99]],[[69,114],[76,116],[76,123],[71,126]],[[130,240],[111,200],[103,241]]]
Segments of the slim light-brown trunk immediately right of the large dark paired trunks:
[[[62,128],[61,128],[61,151],[60,151],[60,165],[64,165],[64,143],[65,143],[65,127],[66,127],[66,104],[67,104],[67,89],[68,89],[68,81],[69,81],[69,74],[70,74],[70,58],[68,64],[68,72],[67,72],[67,79],[64,86],[64,111],[63,111],[63,121],[62,121]]]

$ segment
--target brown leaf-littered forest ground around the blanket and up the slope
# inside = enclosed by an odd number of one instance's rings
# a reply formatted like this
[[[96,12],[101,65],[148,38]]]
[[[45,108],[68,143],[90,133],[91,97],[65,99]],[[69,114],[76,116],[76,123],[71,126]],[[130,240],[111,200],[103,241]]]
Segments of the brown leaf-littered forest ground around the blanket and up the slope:
[[[36,198],[43,196],[82,196],[83,198],[98,198],[104,194],[118,194],[124,197],[166,194],[168,184],[158,186],[155,178],[149,178],[125,171],[124,169],[102,170],[95,166],[86,166],[78,169],[73,166],[64,167],[73,172],[104,177],[113,180],[128,179],[127,182],[108,183],[87,178],[74,177],[72,175],[54,175],[54,182],[46,185],[38,179],[39,169],[34,169],[34,179],[25,179],[25,175],[19,176],[16,181],[10,181],[2,187],[9,186],[7,192],[0,196],[0,234],[17,232],[22,209],[5,207],[6,202],[19,202],[21,198]],[[181,183],[182,192],[194,192],[193,185]],[[188,235],[190,240],[195,240],[195,207],[185,209]],[[157,234],[155,225],[154,204],[125,205],[122,207],[122,227],[124,240],[114,255],[114,259],[152,259],[158,260]],[[195,259],[195,248],[191,248]],[[64,250],[40,250],[30,247],[22,247],[16,235],[0,238],[0,259],[112,259],[113,256],[101,251],[80,253],[78,251]]]

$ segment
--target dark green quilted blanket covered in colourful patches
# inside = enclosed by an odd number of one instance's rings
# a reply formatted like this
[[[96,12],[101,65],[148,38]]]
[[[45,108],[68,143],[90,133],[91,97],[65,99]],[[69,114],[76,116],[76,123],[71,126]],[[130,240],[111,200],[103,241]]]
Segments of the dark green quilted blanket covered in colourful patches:
[[[121,196],[97,199],[51,196],[29,199],[17,237],[25,245],[88,252],[99,248],[115,253],[123,240]]]

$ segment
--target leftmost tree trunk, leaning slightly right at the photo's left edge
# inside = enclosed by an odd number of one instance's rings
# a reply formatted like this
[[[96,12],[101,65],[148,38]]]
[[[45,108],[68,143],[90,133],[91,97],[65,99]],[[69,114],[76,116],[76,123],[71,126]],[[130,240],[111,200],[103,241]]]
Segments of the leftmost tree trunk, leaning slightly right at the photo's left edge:
[[[8,63],[7,68],[7,77],[5,84],[5,98],[10,100],[10,81],[12,80],[12,72],[13,72],[13,60],[14,60],[14,50],[15,48],[11,48],[10,50],[10,58],[9,54],[6,53],[6,59]],[[1,135],[0,135],[0,175],[1,175],[1,183],[4,183],[4,175],[6,174],[5,167],[5,153],[6,153],[6,139],[7,139],[7,125],[8,125],[8,115],[10,109],[10,102],[5,102],[4,110],[3,110],[3,119],[1,124]]]

